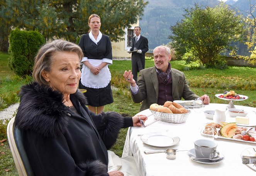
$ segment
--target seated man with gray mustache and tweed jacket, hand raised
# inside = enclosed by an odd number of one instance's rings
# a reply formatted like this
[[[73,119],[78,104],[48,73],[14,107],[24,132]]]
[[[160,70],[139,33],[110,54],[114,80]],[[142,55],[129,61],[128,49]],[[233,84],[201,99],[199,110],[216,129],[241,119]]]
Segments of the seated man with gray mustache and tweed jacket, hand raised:
[[[198,96],[193,93],[183,72],[171,68],[170,48],[158,46],[154,49],[154,67],[139,72],[137,84],[131,70],[124,72],[124,78],[131,84],[132,100],[142,102],[141,111],[149,108],[153,103],[164,105],[166,101],[202,99],[203,104],[210,103],[207,95]]]

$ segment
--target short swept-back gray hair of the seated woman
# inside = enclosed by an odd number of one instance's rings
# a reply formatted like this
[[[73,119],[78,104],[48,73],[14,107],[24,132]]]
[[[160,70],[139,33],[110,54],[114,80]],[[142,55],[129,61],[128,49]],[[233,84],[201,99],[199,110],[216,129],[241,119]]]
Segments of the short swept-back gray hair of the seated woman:
[[[64,40],[54,40],[53,42],[46,43],[40,48],[36,55],[32,74],[34,80],[40,85],[48,85],[48,82],[42,76],[42,71],[51,71],[51,66],[53,65],[53,54],[62,51],[75,52],[79,56],[80,61],[83,58],[83,51],[80,46],[75,43]]]

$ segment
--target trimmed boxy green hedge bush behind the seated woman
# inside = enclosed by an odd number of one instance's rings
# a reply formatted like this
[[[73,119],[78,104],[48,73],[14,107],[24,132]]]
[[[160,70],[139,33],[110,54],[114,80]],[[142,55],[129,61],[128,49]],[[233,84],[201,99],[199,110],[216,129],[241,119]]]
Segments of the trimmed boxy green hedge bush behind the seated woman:
[[[12,30],[9,36],[8,65],[19,76],[32,75],[34,58],[44,45],[44,37],[37,31]]]

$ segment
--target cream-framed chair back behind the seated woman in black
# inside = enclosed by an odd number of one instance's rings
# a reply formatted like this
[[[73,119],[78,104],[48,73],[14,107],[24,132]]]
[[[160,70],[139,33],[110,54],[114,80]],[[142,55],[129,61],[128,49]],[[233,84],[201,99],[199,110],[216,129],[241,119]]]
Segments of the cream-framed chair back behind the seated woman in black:
[[[13,117],[7,126],[7,137],[19,176],[34,176],[27,154],[25,152],[19,128],[14,126]]]

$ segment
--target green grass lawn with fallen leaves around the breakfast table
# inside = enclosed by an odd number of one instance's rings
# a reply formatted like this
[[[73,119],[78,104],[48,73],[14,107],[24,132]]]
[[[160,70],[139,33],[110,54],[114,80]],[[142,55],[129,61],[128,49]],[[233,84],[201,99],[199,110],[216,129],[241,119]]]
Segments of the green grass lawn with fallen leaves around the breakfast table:
[[[20,86],[31,81],[31,77],[20,78],[15,76],[12,70],[8,68],[8,54],[0,52],[0,100],[4,100],[0,110],[7,107],[12,103],[19,101],[17,94],[19,93]],[[146,60],[146,68],[154,65],[153,60]],[[183,71],[187,66],[184,61],[171,61],[172,68]],[[140,104],[133,103],[129,92],[129,84],[124,81],[122,77],[124,70],[131,70],[131,61],[114,60],[113,65],[109,66],[112,73],[111,83],[117,89],[113,90],[114,103],[105,106],[105,111],[117,111],[123,115],[133,116],[139,112]],[[220,100],[214,95],[217,93],[223,93],[225,90],[234,90],[236,93],[241,95],[249,96],[248,100],[236,101],[235,105],[245,105],[256,107],[256,68],[249,67],[237,67],[231,66],[226,70],[216,69],[204,69],[204,70],[187,70],[183,71],[186,79],[190,84],[190,88],[197,95],[207,94],[210,96],[211,103],[225,103],[227,101]],[[1,129],[6,129],[5,124],[0,123],[0,134],[2,138],[6,139],[6,133],[2,132]],[[1,128],[4,127],[4,128]],[[116,144],[112,147],[117,155],[122,155],[122,149],[124,147],[125,136],[127,129],[120,131],[119,138]],[[0,135],[1,136],[1,135]],[[5,141],[0,145],[0,175],[4,176],[15,176],[17,170],[10,153],[8,141]],[[4,153],[4,154],[3,154]],[[9,171],[5,171],[9,169]]]

